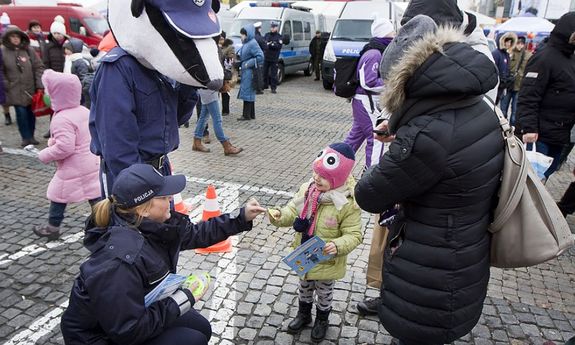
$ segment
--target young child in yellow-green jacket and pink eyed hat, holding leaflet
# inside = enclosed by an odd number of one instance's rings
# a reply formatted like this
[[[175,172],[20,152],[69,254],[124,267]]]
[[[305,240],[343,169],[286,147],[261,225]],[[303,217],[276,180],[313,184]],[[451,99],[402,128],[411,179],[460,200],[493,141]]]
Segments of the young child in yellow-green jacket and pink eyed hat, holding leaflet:
[[[362,242],[361,210],[353,196],[355,163],[348,144],[326,147],[313,162],[313,178],[304,183],[296,196],[281,210],[270,209],[270,222],[277,227],[293,226],[294,248],[313,236],[326,242],[324,252],[333,254],[301,277],[299,311],[288,325],[288,332],[299,332],[311,323],[316,294],[316,320],[311,337],[321,341],[327,332],[335,280],[345,276],[347,254]]]

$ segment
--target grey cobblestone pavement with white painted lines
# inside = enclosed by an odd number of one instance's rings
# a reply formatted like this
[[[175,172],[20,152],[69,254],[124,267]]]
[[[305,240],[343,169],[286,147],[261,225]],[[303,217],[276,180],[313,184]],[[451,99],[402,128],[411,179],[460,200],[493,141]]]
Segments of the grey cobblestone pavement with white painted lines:
[[[189,177],[184,198],[201,195],[213,183],[227,211],[252,196],[264,206],[285,204],[309,178],[317,152],[344,137],[351,126],[350,108],[303,76],[289,78],[277,95],[258,97],[255,121],[237,122],[241,103],[233,99],[232,115],[224,118],[224,127],[245,152],[225,157],[217,143],[209,145],[209,154],[192,152],[193,128],[182,128],[180,149],[171,158],[175,170]],[[47,119],[42,118],[37,136],[46,129]],[[15,125],[0,125],[0,140],[5,148],[0,154],[0,343],[62,344],[59,317],[88,254],[81,231],[89,207],[69,207],[60,241],[47,243],[35,237],[32,227],[47,217],[45,191],[54,167],[22,154]],[[559,198],[572,179],[565,167],[548,187]],[[201,197],[194,201],[200,202]],[[365,296],[378,295],[365,286],[369,218],[364,214],[363,244],[349,256],[347,275],[336,284],[331,327],[323,344],[391,340],[376,317],[359,316],[355,306]],[[196,304],[212,323],[211,343],[309,344],[310,329],[295,336],[286,332],[297,311],[298,279],[281,259],[288,253],[293,230],[276,229],[267,219],[256,223],[252,231],[234,239],[233,253],[181,255],[182,273],[209,271],[215,277],[215,288]],[[542,344],[546,340],[561,344],[575,336],[573,273],[574,250],[537,267],[493,269],[479,324],[455,344]]]

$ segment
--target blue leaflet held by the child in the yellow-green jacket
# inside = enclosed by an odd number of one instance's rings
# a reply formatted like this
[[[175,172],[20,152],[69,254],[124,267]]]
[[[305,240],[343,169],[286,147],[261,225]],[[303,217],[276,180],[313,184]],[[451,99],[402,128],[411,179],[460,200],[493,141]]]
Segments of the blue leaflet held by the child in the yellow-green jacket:
[[[333,257],[333,255],[324,254],[324,247],[325,242],[321,238],[314,236],[297,247],[282,261],[298,275],[303,276],[320,262]]]

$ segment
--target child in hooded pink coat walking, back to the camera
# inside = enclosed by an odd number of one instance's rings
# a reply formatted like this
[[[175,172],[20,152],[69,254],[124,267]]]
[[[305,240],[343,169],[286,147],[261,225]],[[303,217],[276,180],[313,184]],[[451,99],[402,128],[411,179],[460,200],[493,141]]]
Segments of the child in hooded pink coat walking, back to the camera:
[[[99,200],[100,160],[90,152],[90,111],[80,105],[82,86],[78,77],[46,70],[42,83],[50,95],[54,116],[48,147],[40,151],[38,158],[46,164],[56,162],[56,174],[46,193],[50,200],[48,224],[35,227],[34,233],[55,240],[60,237],[67,204],[89,201],[93,205]]]

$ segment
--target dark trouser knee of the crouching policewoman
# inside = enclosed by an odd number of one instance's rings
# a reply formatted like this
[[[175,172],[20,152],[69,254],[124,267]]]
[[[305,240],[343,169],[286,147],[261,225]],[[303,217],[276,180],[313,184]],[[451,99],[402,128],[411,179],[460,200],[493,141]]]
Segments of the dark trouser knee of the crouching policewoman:
[[[211,336],[210,322],[194,309],[190,309],[170,328],[142,345],[207,345]]]

